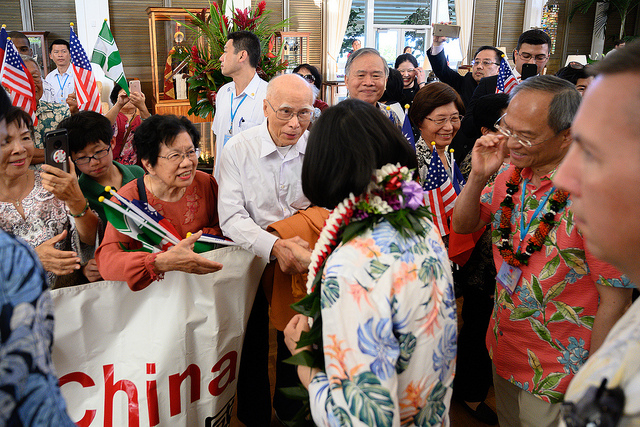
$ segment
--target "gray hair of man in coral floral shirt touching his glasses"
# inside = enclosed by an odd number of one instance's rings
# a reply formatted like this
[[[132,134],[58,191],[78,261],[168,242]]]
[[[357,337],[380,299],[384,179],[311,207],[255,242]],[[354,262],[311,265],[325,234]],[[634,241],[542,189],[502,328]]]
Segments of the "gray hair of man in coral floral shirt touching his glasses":
[[[535,76],[522,81],[511,92],[511,99],[520,92],[538,91],[553,94],[549,103],[547,124],[556,134],[571,127],[582,96],[573,83],[556,76]]]

